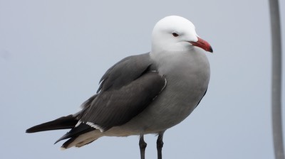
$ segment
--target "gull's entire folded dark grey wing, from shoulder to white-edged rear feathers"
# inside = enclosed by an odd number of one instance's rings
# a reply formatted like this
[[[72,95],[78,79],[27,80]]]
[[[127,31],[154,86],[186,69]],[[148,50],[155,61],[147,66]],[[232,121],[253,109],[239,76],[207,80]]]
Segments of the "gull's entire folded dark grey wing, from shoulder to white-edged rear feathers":
[[[149,54],[126,57],[103,75],[98,94],[83,104],[78,119],[106,131],[142,112],[164,89],[166,80],[153,69]]]

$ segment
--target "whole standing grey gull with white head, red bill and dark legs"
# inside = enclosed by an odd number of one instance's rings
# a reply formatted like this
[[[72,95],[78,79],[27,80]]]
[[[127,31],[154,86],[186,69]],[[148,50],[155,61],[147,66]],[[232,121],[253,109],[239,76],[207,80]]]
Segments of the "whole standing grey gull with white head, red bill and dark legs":
[[[68,139],[62,148],[81,147],[102,136],[139,135],[141,158],[147,145],[143,136],[157,133],[157,158],[162,158],[165,130],[189,116],[207,91],[210,71],[204,50],[212,53],[190,21],[162,18],[152,31],[151,52],[110,67],[81,111],[26,132],[71,128],[58,139]]]

